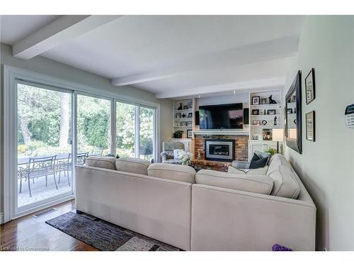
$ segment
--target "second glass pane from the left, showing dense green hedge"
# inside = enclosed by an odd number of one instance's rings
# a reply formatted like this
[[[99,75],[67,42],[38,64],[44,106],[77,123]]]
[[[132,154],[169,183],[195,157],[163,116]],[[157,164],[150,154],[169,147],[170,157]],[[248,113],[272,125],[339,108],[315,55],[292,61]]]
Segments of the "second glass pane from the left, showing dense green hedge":
[[[107,155],[110,148],[110,101],[77,96],[77,153]]]

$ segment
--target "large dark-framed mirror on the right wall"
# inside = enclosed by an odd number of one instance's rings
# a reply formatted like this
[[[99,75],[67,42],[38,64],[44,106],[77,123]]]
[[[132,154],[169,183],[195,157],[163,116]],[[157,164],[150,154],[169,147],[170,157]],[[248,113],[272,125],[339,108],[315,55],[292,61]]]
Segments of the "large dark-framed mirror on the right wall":
[[[292,125],[290,124],[290,118],[288,117],[289,113],[285,113],[285,121],[286,121],[286,145],[287,147],[295,150],[297,153],[302,154],[302,78],[301,78],[301,70],[297,72],[297,75],[292,82],[286,96],[285,96],[285,108],[288,108],[288,104],[292,104],[295,99],[296,106],[296,138],[293,138],[290,135],[290,130],[292,129]],[[291,121],[293,118],[291,119]]]

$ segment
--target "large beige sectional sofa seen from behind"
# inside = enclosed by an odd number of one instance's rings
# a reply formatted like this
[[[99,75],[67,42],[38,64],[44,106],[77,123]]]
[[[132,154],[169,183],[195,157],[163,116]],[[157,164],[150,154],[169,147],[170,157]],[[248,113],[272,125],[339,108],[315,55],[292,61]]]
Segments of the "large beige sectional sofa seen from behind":
[[[139,159],[76,166],[76,209],[183,250],[314,250],[316,207],[282,155],[266,174]]]

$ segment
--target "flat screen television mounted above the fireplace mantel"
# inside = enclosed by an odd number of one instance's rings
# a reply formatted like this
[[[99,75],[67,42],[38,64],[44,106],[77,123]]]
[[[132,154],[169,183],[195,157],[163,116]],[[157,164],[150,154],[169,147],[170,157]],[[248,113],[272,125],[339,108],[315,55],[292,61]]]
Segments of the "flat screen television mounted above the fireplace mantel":
[[[242,129],[244,110],[242,104],[199,106],[200,129]]]

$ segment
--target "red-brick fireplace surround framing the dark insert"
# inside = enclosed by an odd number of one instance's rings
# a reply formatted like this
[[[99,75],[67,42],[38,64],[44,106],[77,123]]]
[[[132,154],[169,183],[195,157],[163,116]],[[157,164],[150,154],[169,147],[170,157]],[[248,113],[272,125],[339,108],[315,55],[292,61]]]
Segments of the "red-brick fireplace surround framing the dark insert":
[[[197,158],[200,151],[201,160],[205,160],[205,140],[234,140],[234,158],[235,160],[246,161],[249,154],[249,136],[248,135],[202,135],[196,134],[194,140],[194,157]]]

